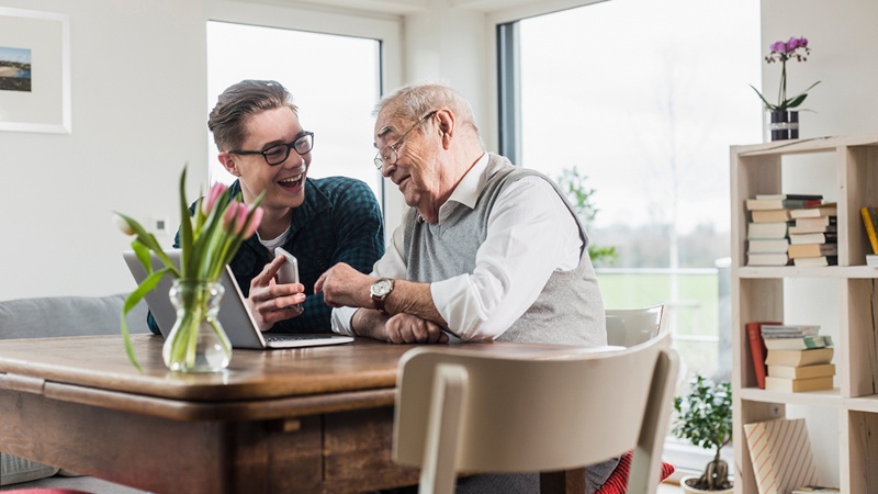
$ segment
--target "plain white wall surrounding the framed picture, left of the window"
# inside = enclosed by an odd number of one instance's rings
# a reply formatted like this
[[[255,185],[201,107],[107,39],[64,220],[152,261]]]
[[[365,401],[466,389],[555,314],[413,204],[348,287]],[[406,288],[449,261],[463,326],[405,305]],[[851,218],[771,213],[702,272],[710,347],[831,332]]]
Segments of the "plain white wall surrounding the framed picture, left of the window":
[[[131,290],[111,212],[176,225],[205,177],[203,1],[0,5],[69,15],[72,89],[71,134],[0,132],[0,300]]]

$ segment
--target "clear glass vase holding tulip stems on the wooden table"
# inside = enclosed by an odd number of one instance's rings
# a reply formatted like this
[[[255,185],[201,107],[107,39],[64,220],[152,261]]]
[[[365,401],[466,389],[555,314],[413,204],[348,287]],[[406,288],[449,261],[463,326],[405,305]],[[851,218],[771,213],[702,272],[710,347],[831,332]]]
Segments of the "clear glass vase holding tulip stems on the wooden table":
[[[177,372],[218,372],[232,360],[232,344],[216,318],[225,289],[218,282],[175,280],[170,299],[177,322],[161,357]]]

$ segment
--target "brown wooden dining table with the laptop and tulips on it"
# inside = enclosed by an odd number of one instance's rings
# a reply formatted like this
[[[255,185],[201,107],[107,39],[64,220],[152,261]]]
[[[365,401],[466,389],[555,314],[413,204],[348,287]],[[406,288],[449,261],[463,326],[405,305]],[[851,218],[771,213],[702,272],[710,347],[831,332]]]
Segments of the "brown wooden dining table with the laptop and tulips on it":
[[[391,458],[399,358],[412,345],[235,349],[224,372],[179,373],[162,339],[0,341],[0,451],[155,493],[362,493],[417,484]],[[570,347],[469,344],[489,352]],[[581,493],[583,469],[541,475]]]

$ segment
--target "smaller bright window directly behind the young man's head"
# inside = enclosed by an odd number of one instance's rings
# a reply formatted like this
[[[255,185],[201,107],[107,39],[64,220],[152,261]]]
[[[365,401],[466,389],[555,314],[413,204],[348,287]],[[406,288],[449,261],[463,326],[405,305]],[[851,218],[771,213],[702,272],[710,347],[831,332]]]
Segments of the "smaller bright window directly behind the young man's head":
[[[273,79],[293,94],[302,126],[314,132],[308,177],[346,176],[372,187],[382,202],[381,176],[372,166],[380,94],[380,42],[227,22],[207,23],[207,108],[244,79]],[[206,119],[205,119],[206,121]],[[210,181],[232,183],[207,136]]]

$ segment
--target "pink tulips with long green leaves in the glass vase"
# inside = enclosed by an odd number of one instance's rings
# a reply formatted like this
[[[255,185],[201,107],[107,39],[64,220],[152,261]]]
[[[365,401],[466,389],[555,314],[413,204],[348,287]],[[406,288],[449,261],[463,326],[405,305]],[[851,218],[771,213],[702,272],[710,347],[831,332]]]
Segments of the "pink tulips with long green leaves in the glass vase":
[[[114,222],[126,235],[133,235],[131,246],[147,272],[146,279],[128,295],[122,308],[122,335],[125,352],[135,368],[140,370],[131,344],[126,314],[161,281],[170,276],[182,281],[216,282],[223,269],[232,260],[241,243],[252,236],[262,221],[259,203],[262,195],[252,204],[245,204],[240,193],[232,197],[228,188],[215,183],[206,197],[201,198],[190,214],[185,199],[185,167],[180,175],[180,266],[165,254],[156,237],[147,232],[136,220],[122,213],[114,214]],[[150,254],[151,252],[151,254]],[[153,269],[151,255],[164,265]],[[221,327],[215,327],[222,330]],[[225,339],[225,338],[224,338]],[[188,347],[179,351],[192,355],[195,338],[181,338]],[[230,350],[229,350],[230,351]]]

